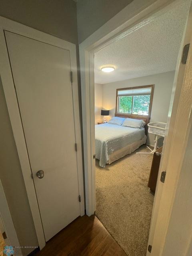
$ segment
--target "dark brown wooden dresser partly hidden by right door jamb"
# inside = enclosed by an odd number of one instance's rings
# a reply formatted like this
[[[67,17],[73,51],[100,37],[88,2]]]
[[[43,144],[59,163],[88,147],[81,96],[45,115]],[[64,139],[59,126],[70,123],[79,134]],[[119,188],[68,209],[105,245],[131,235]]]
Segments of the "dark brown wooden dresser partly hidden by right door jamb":
[[[158,148],[158,150],[153,155],[153,161],[152,161],[152,165],[151,165],[151,172],[150,172],[149,181],[148,181],[148,187],[150,188],[150,190],[152,192],[155,192],[155,189],[156,189],[162,148],[163,147]]]

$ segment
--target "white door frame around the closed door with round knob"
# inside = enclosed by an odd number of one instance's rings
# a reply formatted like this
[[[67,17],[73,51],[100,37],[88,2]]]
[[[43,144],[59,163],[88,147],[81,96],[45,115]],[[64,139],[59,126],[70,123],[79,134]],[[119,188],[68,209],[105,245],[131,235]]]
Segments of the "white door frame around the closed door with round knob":
[[[28,153],[26,148],[26,142],[24,138],[24,132],[22,128],[22,122],[20,118],[20,112],[18,108],[18,102],[16,92],[14,89],[14,81],[12,78],[12,71],[10,68],[10,61],[8,57],[8,51],[6,47],[6,40],[4,36],[4,30],[26,36],[40,42],[57,46],[70,52],[71,71],[73,72],[72,82],[72,94],[73,94],[73,107],[74,107],[74,126],[75,137],[77,144],[77,169],[78,169],[78,185],[79,194],[81,196],[80,202],[80,215],[84,215],[84,178],[83,178],[83,166],[82,166],[82,140],[81,140],[81,126],[80,126],[80,112],[79,112],[79,98],[78,98],[78,78],[77,78],[77,62],[76,62],[76,45],[50,34],[38,31],[34,28],[30,28],[18,22],[9,20],[0,16],[0,76],[2,79],[2,86],[6,98],[6,104],[8,107],[8,113],[10,116],[10,122],[13,130],[14,139],[16,142],[16,148],[20,160],[22,174],[24,177],[24,183],[26,186],[26,192],[32,212],[34,226],[38,238],[40,249],[45,246],[45,238],[40,218],[40,212],[38,208],[38,201],[36,197],[34,182],[31,177],[30,162],[28,159]]]

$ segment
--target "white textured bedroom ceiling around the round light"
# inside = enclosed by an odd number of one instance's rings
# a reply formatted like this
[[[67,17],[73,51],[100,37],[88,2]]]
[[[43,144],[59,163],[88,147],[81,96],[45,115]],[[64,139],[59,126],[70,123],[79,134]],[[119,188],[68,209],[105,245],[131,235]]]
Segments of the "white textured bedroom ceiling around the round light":
[[[189,1],[184,1],[97,52],[95,82],[106,84],[175,70],[188,10]],[[102,72],[101,66],[107,64],[116,70]]]

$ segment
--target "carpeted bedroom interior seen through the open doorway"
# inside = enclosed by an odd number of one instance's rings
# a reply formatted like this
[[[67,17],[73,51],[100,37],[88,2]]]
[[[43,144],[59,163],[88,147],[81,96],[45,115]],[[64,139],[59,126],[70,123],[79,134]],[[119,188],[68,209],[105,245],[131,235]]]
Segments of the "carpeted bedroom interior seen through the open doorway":
[[[183,2],[94,55],[96,216],[130,256],[146,253],[187,11]]]

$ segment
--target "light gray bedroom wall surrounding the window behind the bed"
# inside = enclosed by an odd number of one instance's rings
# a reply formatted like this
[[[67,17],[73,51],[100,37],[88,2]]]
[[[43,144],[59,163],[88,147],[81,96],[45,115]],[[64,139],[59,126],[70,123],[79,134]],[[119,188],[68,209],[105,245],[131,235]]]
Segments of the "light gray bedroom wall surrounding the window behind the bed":
[[[115,114],[117,88],[154,84],[155,88],[150,122],[166,122],[172,93],[174,73],[174,71],[171,71],[166,73],[155,74],[152,76],[143,76],[139,78],[103,84],[102,108],[110,110],[110,116],[108,116],[106,119],[109,120]],[[154,145],[153,134],[148,134],[147,143],[150,145]]]

